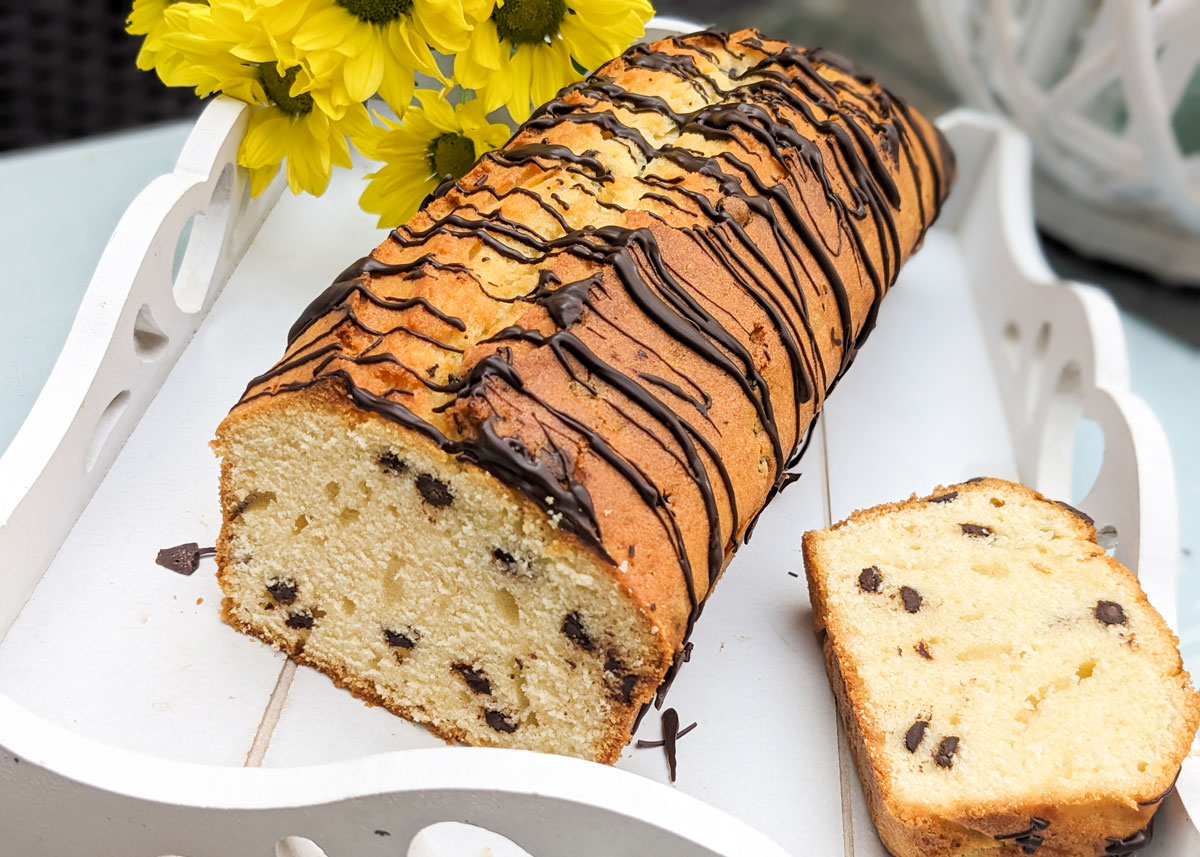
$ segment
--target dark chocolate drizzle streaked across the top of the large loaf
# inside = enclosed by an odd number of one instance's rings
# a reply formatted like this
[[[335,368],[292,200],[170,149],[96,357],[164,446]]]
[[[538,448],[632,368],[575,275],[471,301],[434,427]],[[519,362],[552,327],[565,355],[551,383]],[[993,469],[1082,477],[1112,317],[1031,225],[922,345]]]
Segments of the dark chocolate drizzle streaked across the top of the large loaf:
[[[401,264],[366,257],[319,295],[289,331],[288,355],[251,382],[242,402],[313,384],[341,385],[359,408],[412,428],[448,455],[478,465],[522,492],[545,509],[558,527],[616,565],[605,544],[602,516],[598,515],[584,480],[576,473],[575,450],[586,448],[619,474],[659,520],[679,562],[690,600],[686,640],[707,593],[739,540],[749,538],[757,513],[746,516],[737,508],[731,473],[708,439],[718,431],[709,416],[713,394],[684,376],[667,378],[648,367],[620,365],[608,349],[599,347],[596,336],[589,331],[604,325],[605,336],[629,338],[647,359],[650,354],[656,355],[648,343],[636,340],[630,325],[607,314],[610,306],[631,304],[679,348],[727,377],[752,406],[769,443],[774,459],[769,502],[788,483],[786,471],[803,453],[802,441],[806,443],[811,437],[811,431],[802,431],[806,422],[798,419],[803,416],[802,408],[810,403],[820,406],[848,368],[875,325],[880,300],[894,281],[902,256],[913,248],[901,245],[895,222],[901,199],[896,176],[902,174],[917,188],[917,205],[925,226],[916,246],[931,220],[925,215],[923,179],[926,174],[931,176],[932,198],[940,204],[948,191],[947,174],[953,170],[953,156],[940,134],[928,133],[913,120],[904,102],[829,52],[790,46],[775,50],[758,37],[733,42],[718,32],[678,37],[672,43],[685,53],[671,55],[635,46],[616,62],[671,74],[691,86],[706,102],[720,103],[679,113],[659,96],[625,90],[604,74],[607,66],[568,86],[522,126],[515,137],[521,142],[485,155],[481,166],[464,179],[448,180],[438,186],[426,205],[432,206],[431,211],[442,211],[434,205],[436,200],[455,194],[456,205],[448,214],[420,221],[425,223],[421,228],[402,226],[391,233],[394,245],[422,251],[420,256]],[[719,44],[738,58],[743,71],[728,74],[730,89],[724,89],[701,70],[701,65],[714,56],[706,44]],[[850,76],[859,85],[842,76]],[[724,98],[732,100],[721,101]],[[679,138],[696,134],[728,145],[713,155],[678,140],[658,146],[647,140],[642,131],[623,122],[617,110],[653,114],[673,124]],[[811,125],[815,130],[811,138],[787,119],[791,112]],[[776,402],[758,359],[731,332],[727,322],[713,314],[712,305],[697,298],[695,284],[664,254],[659,241],[662,230],[658,224],[570,229],[562,214],[566,206],[556,205],[553,194],[547,193],[544,198],[512,182],[506,182],[504,191],[488,184],[490,175],[497,170],[557,172],[574,182],[574,188],[595,197],[598,204],[624,211],[622,205],[600,199],[600,193],[616,180],[599,152],[574,151],[558,143],[529,139],[533,137],[530,131],[541,134],[566,124],[594,126],[608,139],[623,144],[632,158],[644,162],[647,169],[636,178],[646,188],[647,205],[641,210],[666,226],[672,240],[690,242],[695,256],[724,269],[769,319],[791,365],[792,406],[797,418],[787,424],[796,424],[794,442],[781,435]],[[754,149],[750,143],[755,144]],[[746,160],[745,152],[751,151],[774,160],[784,178],[768,181],[763,170]],[[700,184],[708,190],[686,187],[685,174],[700,176]],[[546,236],[505,216],[500,208],[486,210],[464,202],[476,193],[486,193],[496,200],[510,196],[534,200],[539,210],[558,224],[562,234]],[[815,226],[810,197],[818,197],[833,211],[838,224],[834,235],[823,234]],[[656,206],[685,211],[700,222],[671,228],[655,212]],[[770,236],[767,244],[774,244],[773,247],[763,246],[762,232],[754,235],[748,232],[751,220],[766,228],[764,234]],[[487,283],[469,265],[438,258],[438,251],[432,247],[443,236],[469,239],[502,259],[538,268],[536,287],[516,298],[492,295]],[[857,326],[847,283],[834,263],[842,254],[854,259],[858,277],[870,283],[872,294],[865,314],[862,310],[858,312],[863,322]],[[551,270],[552,266],[558,270],[577,268],[580,263],[596,272],[564,282]],[[430,269],[449,271],[468,287],[474,283],[493,300],[540,306],[553,326],[515,325],[499,330],[486,341],[494,346],[493,353],[472,358],[473,362],[463,365],[463,374],[451,374],[439,383],[425,371],[426,361],[407,366],[400,355],[386,350],[385,340],[397,334],[413,336],[451,354],[462,354],[463,348],[451,342],[470,344],[461,336],[467,324],[426,298],[384,298],[371,288],[377,277],[415,276]],[[832,307],[836,307],[835,337],[841,343],[836,365],[827,366],[818,348],[818,338],[828,337],[829,331],[812,328],[805,292],[810,283],[816,286],[818,295],[828,296]],[[386,330],[376,329],[355,313],[355,307],[367,305],[408,313],[406,317],[412,316],[414,320]],[[421,314],[427,318],[420,318]],[[340,325],[352,336],[326,336],[340,330]],[[319,332],[310,335],[314,326]],[[445,331],[444,337],[428,332],[438,329]],[[347,342],[361,334],[373,337],[372,343],[352,349]],[[516,365],[516,348],[551,355],[580,390],[606,401],[625,421],[679,462],[695,485],[708,519],[704,557],[689,552],[662,485],[613,445],[602,424],[583,421],[565,406],[539,396]],[[350,367],[373,364],[386,364],[391,374],[408,379],[407,385],[382,392],[365,389]],[[406,404],[406,400],[412,401],[415,396],[414,390],[421,388],[434,395],[434,401],[440,397],[433,413],[449,410],[454,415],[460,430],[455,437],[448,437]],[[530,448],[527,437],[516,433],[514,420],[498,407],[522,398],[532,404],[530,412],[536,412],[544,432],[545,441],[536,449]],[[707,428],[702,430],[702,425]],[[449,491],[443,495],[422,490],[422,497],[434,507],[452,499]],[[620,550],[625,546],[620,545]],[[702,577],[697,579],[698,575]],[[704,586],[698,580],[704,580]],[[563,630],[575,639],[566,623]],[[574,631],[574,627],[570,630]],[[677,657],[671,665],[664,690],[682,663]],[[661,697],[662,690],[659,705]]]

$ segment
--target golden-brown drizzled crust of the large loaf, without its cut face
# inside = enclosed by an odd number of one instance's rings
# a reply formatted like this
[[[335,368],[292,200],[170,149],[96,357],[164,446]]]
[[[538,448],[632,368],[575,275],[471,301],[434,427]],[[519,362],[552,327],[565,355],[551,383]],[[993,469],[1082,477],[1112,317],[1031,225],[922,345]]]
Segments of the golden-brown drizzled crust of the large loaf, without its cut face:
[[[218,437],[276,396],[360,392],[421,424],[397,424],[406,443],[436,435],[498,474],[480,451],[494,431],[586,493],[594,537],[562,540],[612,558],[670,658],[936,217],[953,163],[874,80],[754,31],[664,40],[598,74],[380,245]],[[610,232],[587,232],[598,226]],[[584,281],[565,320],[540,288]],[[347,418],[380,419],[349,406]],[[539,514],[562,509],[524,495]]]

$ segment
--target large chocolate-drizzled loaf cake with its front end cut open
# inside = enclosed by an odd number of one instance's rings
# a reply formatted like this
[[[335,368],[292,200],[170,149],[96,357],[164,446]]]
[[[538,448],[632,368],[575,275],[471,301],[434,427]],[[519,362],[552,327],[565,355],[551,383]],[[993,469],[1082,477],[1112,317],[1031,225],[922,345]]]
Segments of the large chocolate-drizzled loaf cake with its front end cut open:
[[[226,619],[446,739],[614,761],[952,172],[752,31],[563,90],[222,422]]]

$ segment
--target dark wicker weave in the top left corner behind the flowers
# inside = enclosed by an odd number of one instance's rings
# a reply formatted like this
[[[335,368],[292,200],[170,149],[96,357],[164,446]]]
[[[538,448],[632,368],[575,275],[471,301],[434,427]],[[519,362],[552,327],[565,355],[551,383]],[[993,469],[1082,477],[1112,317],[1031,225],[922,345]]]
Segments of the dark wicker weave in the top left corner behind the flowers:
[[[0,151],[199,113],[133,64],[132,0],[0,0]]]

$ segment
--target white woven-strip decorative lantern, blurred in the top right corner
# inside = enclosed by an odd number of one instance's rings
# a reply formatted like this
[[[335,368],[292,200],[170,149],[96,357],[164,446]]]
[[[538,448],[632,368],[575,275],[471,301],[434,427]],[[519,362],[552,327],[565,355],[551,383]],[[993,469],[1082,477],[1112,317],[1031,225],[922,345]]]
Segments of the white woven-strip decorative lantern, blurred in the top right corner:
[[[1200,286],[1200,1],[922,0],[946,71],[1033,140],[1040,227]]]

